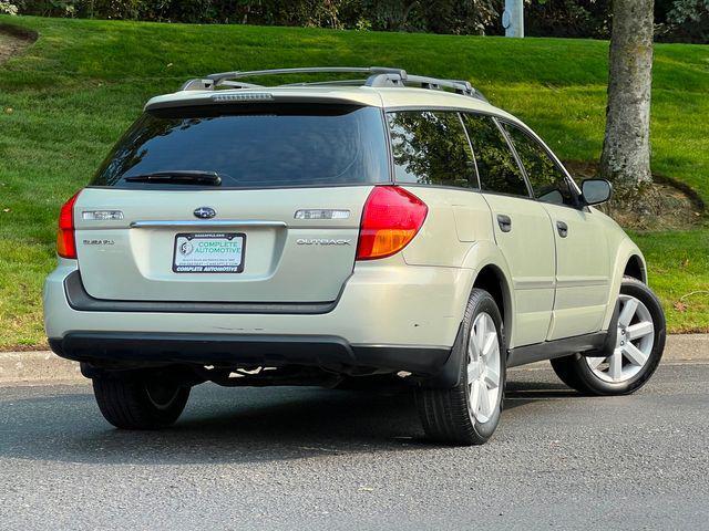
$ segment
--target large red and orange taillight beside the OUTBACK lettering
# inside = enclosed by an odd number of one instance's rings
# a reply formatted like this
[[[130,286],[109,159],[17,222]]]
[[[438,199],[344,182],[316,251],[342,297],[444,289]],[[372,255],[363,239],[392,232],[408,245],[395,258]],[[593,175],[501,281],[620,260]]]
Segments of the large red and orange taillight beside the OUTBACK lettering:
[[[357,246],[358,260],[390,257],[407,247],[423,225],[429,207],[397,186],[377,186],[367,198]]]

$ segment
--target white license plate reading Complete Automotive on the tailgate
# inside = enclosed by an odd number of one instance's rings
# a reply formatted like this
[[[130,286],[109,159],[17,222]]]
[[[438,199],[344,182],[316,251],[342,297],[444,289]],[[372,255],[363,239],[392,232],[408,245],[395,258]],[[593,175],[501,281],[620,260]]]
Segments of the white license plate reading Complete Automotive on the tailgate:
[[[246,235],[181,233],[175,236],[175,273],[240,273]]]

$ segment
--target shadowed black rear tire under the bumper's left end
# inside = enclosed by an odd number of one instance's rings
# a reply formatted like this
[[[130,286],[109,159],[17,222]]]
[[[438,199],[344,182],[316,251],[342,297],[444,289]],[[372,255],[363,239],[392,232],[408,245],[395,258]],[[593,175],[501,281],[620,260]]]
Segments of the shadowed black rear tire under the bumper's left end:
[[[97,375],[93,393],[104,418],[121,429],[160,429],[177,420],[189,387],[158,376]]]

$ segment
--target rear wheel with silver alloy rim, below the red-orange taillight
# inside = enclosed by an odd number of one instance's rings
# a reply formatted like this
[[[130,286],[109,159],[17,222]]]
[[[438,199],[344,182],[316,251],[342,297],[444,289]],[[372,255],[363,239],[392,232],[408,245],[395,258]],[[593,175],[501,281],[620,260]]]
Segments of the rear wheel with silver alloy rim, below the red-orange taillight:
[[[474,289],[463,317],[463,341],[451,353],[460,360],[458,385],[417,389],[417,406],[429,438],[464,446],[490,439],[502,413],[504,345],[502,316],[494,299]]]

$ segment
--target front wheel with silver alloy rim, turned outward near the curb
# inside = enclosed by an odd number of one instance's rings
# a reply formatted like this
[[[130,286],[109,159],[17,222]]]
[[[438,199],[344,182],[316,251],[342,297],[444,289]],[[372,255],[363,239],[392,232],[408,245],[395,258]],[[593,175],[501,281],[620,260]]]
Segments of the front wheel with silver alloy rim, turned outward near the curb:
[[[569,387],[588,395],[627,395],[653,376],[665,350],[665,313],[643,282],[626,278],[620,285],[616,342],[597,355],[574,354],[552,360],[554,372]]]

